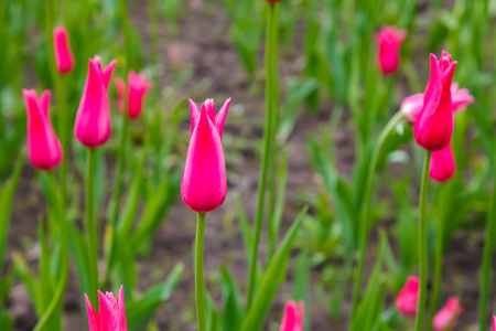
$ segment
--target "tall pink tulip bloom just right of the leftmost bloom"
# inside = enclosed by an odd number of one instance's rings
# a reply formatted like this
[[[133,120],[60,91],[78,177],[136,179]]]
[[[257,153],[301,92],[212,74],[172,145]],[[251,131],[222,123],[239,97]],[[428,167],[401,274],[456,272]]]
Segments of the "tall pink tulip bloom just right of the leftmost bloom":
[[[74,127],[77,140],[88,148],[104,145],[110,137],[111,122],[107,89],[116,63],[116,61],[110,62],[104,70],[99,56],[89,60],[88,77]]]

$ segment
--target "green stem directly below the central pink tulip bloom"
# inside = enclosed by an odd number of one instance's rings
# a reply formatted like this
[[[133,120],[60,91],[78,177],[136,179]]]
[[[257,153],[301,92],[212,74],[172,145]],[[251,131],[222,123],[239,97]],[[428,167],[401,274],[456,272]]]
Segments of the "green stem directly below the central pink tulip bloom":
[[[205,213],[196,214],[195,241],[195,291],[196,291],[196,320],[198,331],[205,331],[205,285],[203,279],[203,245],[205,237]]]

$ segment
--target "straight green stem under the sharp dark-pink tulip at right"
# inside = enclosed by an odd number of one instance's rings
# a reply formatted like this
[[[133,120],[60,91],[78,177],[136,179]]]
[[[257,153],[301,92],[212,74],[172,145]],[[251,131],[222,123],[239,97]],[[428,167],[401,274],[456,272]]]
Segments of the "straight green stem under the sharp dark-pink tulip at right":
[[[420,188],[420,217],[419,217],[419,260],[420,284],[419,301],[417,303],[416,331],[423,329],[423,316],[425,314],[427,287],[428,287],[428,252],[427,252],[427,205],[429,192],[429,168],[431,163],[431,151],[427,151],[422,170],[422,185]]]

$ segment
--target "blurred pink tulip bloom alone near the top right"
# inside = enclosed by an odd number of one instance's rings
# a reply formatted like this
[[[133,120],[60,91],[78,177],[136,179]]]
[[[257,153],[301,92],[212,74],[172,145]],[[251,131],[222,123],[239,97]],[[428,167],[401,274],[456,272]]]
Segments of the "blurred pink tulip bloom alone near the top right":
[[[407,38],[407,31],[397,30],[393,26],[384,26],[375,35],[376,42],[379,46],[377,60],[380,71],[384,75],[393,74],[400,63],[400,47],[403,40]]]

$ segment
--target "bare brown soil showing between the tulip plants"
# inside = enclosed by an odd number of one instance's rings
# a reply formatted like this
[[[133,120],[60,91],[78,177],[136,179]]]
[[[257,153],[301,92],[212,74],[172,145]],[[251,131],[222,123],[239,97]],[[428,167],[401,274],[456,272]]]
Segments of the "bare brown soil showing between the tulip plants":
[[[142,32],[148,43],[148,14],[145,6],[133,3],[132,21]],[[191,1],[202,3],[202,1]],[[213,6],[212,3],[209,6]],[[239,228],[229,222],[233,215],[234,197],[236,192],[241,195],[245,209],[251,218],[255,209],[255,197],[258,184],[259,161],[256,157],[254,140],[261,138],[263,120],[263,97],[261,94],[254,96],[248,93],[246,76],[238,63],[233,45],[226,39],[229,22],[219,3],[218,10],[206,13],[202,6],[188,9],[187,14],[181,20],[179,35],[171,36],[162,29],[161,44],[162,61],[165,67],[171,65],[170,56],[180,54],[179,60],[183,65],[194,64],[196,72],[190,84],[192,87],[198,82],[206,84],[207,94],[198,98],[215,97],[217,104],[224,98],[233,97],[230,111],[242,114],[244,122],[240,125],[226,121],[226,135],[241,136],[250,143],[245,150],[238,151],[239,159],[228,164],[229,192],[223,207],[208,213],[205,238],[205,270],[207,286],[215,298],[219,297],[219,287],[216,281],[216,270],[220,264],[227,264],[231,273],[240,284],[246,282],[246,261],[242,241]],[[302,26],[303,28],[303,26]],[[207,32],[207,33],[206,33]],[[302,31],[296,33],[303,35]],[[301,42],[300,42],[301,43]],[[298,43],[296,43],[298,44]],[[296,47],[281,61],[283,82],[290,75],[298,75],[301,70],[301,46]],[[165,81],[169,75],[165,73]],[[200,99],[198,99],[200,100]],[[323,107],[316,115],[300,114],[293,135],[288,142],[289,150],[289,183],[287,193],[287,213],[283,218],[285,229],[294,217],[294,213],[301,207],[298,205],[298,195],[303,192],[313,192],[316,189],[319,178],[312,173],[308,164],[305,151],[306,137],[315,132],[316,128],[324,124],[332,111],[332,106]],[[338,169],[343,173],[349,173],[353,166],[353,141],[349,128],[343,125],[333,132],[338,153]],[[227,150],[226,153],[233,151]],[[34,186],[34,171],[26,166],[17,193],[17,203],[13,207],[12,226],[9,236],[10,252],[23,250],[28,260],[36,266],[39,246],[35,242],[36,215],[44,212],[43,199]],[[227,215],[227,216],[226,216]],[[192,243],[195,233],[195,215],[184,206],[181,200],[172,209],[168,221],[160,233],[157,234],[153,250],[149,259],[140,261],[140,289],[144,289],[154,282],[153,275],[163,275],[177,261],[185,264],[183,280],[172,295],[172,298],[161,307],[157,313],[159,330],[195,330],[194,311],[194,279],[192,269]],[[471,239],[467,237],[471,236]],[[261,250],[266,248],[262,238]],[[446,258],[444,273],[444,291],[460,293],[462,290],[462,305],[465,310],[460,319],[457,329],[476,324],[477,307],[477,269],[482,254],[482,234],[457,234]],[[369,265],[375,260],[369,256]],[[77,289],[76,277],[72,275],[68,292],[65,300],[66,330],[78,331],[85,328],[85,308],[82,306],[82,293]],[[315,278],[316,275],[313,275]],[[269,323],[274,327],[281,317],[283,302],[291,295],[291,270],[288,281],[281,287],[278,299],[272,306]],[[35,323],[35,314],[28,295],[22,285],[13,287],[9,307],[15,317],[14,330],[31,330]],[[326,307],[312,307],[306,309],[311,316],[312,330],[346,330],[347,305],[343,308],[344,321],[331,323]],[[76,327],[78,325],[78,327]],[[269,330],[270,328],[266,328]]]

